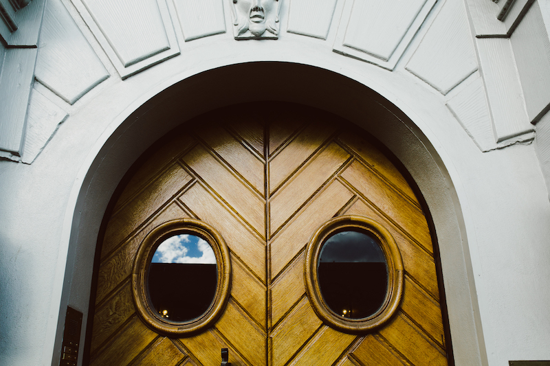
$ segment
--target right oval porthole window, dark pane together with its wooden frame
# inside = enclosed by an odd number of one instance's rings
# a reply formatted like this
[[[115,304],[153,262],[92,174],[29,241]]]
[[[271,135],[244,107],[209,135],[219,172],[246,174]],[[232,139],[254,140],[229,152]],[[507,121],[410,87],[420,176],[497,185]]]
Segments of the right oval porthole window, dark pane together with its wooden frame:
[[[360,216],[340,216],[311,238],[305,282],[321,319],[344,332],[366,332],[388,321],[399,306],[403,263],[382,225]]]

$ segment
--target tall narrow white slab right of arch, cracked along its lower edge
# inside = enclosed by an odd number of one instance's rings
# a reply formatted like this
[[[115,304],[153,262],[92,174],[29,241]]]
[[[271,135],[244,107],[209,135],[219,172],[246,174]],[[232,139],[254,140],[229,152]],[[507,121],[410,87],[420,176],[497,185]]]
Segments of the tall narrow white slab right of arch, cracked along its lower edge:
[[[476,44],[496,141],[531,132],[509,38],[476,38]]]

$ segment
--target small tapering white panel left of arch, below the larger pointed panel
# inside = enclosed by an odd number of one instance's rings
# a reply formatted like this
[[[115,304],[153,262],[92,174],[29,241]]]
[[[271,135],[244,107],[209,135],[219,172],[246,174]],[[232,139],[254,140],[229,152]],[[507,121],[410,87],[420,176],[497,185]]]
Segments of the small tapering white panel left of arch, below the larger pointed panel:
[[[68,116],[67,112],[33,89],[27,117],[25,152],[21,161],[27,164],[32,163],[46,146],[47,141],[52,138],[58,125],[63,123]]]

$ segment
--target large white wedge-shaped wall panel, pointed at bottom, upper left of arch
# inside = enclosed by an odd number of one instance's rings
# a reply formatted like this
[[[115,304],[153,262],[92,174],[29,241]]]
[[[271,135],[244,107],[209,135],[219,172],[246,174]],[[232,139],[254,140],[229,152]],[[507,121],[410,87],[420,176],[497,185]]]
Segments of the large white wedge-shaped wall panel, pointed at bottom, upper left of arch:
[[[73,104],[109,73],[61,0],[48,0],[34,76]]]

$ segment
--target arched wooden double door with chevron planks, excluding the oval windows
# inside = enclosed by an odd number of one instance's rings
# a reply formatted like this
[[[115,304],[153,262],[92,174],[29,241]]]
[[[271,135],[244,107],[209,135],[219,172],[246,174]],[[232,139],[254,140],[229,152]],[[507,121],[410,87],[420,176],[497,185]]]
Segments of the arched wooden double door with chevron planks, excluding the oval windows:
[[[382,328],[346,334],[307,297],[305,246],[334,216],[366,216],[397,242],[404,295]],[[144,237],[197,218],[230,249],[232,287],[208,330],[148,328],[131,294]],[[101,244],[90,364],[447,365],[433,247],[419,201],[358,128],[312,108],[243,104],[196,118],[149,151],[116,202]]]

